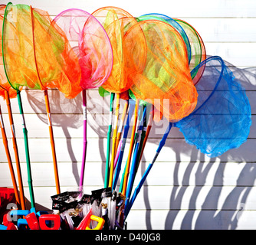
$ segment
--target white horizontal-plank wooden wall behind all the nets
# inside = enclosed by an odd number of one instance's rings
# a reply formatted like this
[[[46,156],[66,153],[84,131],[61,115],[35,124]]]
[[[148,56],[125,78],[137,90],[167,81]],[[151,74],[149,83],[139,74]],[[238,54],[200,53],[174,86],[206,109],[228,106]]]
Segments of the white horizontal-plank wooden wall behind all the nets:
[[[1,3],[7,4],[8,1],[2,0]],[[12,3],[30,4],[48,11],[53,17],[67,8],[82,8],[91,13],[97,8],[113,5],[135,17],[156,12],[181,18],[199,31],[208,55],[219,55],[223,60],[237,67],[250,68],[256,74],[254,0],[13,0]],[[253,121],[248,141],[239,149],[230,150],[218,158],[208,158],[185,143],[178,129],[172,129],[166,146],[130,211],[128,229],[256,228],[256,80],[251,80],[251,84],[246,84],[245,88],[251,103]],[[87,96],[89,129],[84,187],[85,192],[90,193],[91,190],[103,188],[109,100],[103,101],[95,90],[88,91]],[[44,94],[41,91],[23,90],[21,99],[28,128],[35,202],[38,210],[49,210],[50,197],[56,192]],[[50,101],[61,192],[76,190],[83,145],[81,95],[74,100],[67,100],[57,90],[52,90]],[[8,114],[2,98],[0,104],[15,168]],[[16,99],[11,100],[11,106],[18,136],[25,196],[29,202],[25,148]],[[164,130],[162,125],[153,126],[135,184],[153,159]],[[128,149],[126,146],[125,161]],[[11,188],[2,140],[0,186]]]

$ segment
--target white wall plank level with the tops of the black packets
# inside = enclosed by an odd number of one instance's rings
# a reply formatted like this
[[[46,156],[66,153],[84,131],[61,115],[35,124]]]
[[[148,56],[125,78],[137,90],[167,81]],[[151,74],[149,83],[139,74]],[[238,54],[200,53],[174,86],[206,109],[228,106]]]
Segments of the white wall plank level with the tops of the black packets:
[[[103,188],[103,186],[85,186],[84,193]],[[30,206],[28,188],[24,188],[26,204]],[[38,210],[51,210],[51,196],[56,194],[54,187],[34,187],[34,200],[41,205]],[[61,186],[61,192],[77,191],[78,188]],[[255,188],[247,187],[166,187],[150,186],[142,188],[130,211],[255,211]]]

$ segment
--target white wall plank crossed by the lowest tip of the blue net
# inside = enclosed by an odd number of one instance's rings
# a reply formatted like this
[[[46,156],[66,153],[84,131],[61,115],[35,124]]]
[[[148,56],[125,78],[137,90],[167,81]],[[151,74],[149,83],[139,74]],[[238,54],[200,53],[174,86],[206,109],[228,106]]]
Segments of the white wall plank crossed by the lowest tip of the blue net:
[[[256,139],[248,139],[238,149],[231,149],[218,158],[222,162],[254,162],[254,145]],[[77,162],[82,158],[83,139],[54,139],[55,149],[58,162]],[[152,161],[160,139],[149,139],[145,147],[145,161]],[[9,139],[11,145],[11,139]],[[129,151],[129,140],[124,152],[124,158]],[[29,152],[31,162],[52,162],[50,139],[29,139]],[[1,142],[1,148],[3,148]],[[11,151],[12,149],[10,149]],[[24,140],[18,139],[18,150],[20,161],[25,162]],[[107,151],[107,139],[90,139],[87,144],[87,161],[88,162],[105,162]],[[12,153],[11,153],[12,154]],[[196,162],[196,161],[215,161],[215,158],[208,158],[199,152],[194,145],[189,145],[185,139],[167,139],[162,148],[161,154],[157,160],[159,162]],[[0,162],[6,162],[5,151],[0,152]]]

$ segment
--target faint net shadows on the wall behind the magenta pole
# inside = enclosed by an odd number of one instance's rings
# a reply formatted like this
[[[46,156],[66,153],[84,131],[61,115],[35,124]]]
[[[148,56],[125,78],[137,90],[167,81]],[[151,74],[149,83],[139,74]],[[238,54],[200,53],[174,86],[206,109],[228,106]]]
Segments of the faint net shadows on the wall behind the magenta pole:
[[[29,106],[33,109],[38,118],[45,124],[48,124],[48,117],[45,113],[44,95],[38,93],[37,90],[25,90]],[[66,138],[67,150],[69,152],[73,164],[73,174],[77,184],[79,184],[79,171],[77,170],[77,162],[80,162],[74,154],[71,145],[71,134],[69,129],[79,129],[83,126],[83,109],[82,94],[79,93],[74,99],[67,99],[58,90],[49,90],[49,100],[51,101],[51,119],[54,127],[61,127]],[[124,101],[121,100],[120,108],[122,109]],[[100,149],[101,162],[106,161],[106,155],[103,147],[103,136],[107,135],[108,124],[108,108],[109,100],[101,97],[97,90],[87,92],[87,120],[88,126],[99,137],[98,147]],[[90,139],[89,139],[90,141]]]

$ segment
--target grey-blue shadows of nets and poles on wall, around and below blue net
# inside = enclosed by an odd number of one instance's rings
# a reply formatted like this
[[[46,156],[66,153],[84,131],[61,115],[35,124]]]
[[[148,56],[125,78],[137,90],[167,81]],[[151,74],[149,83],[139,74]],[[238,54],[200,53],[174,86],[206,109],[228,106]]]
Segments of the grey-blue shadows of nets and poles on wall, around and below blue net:
[[[193,179],[192,175],[195,176],[195,187],[193,187],[192,194],[189,197],[189,210],[185,211],[185,214],[182,214],[183,218],[179,229],[235,230],[239,226],[239,214],[241,214],[241,211],[248,205],[247,200],[256,179],[256,168],[254,163],[251,162],[252,154],[250,154],[254,147],[251,141],[253,139],[251,138],[254,138],[253,135],[255,132],[253,93],[255,93],[256,90],[256,67],[241,69],[229,64],[225,60],[224,63],[225,66],[231,70],[235,79],[239,80],[241,86],[245,88],[248,100],[251,104],[252,125],[248,141],[245,142],[244,145],[241,145],[241,148],[231,149],[215,158],[205,158],[205,155],[201,153],[199,149],[196,149],[195,146],[192,147],[192,150],[189,148],[187,152],[181,150],[183,154],[190,155],[190,162],[185,170],[182,170],[182,153],[179,149],[173,149],[176,151],[176,163],[174,163],[175,172],[173,173],[174,188],[170,193],[170,211],[166,215],[165,229],[176,228],[174,227],[176,218],[179,216],[182,209],[182,200],[184,200],[185,192],[188,190],[189,185],[191,185],[191,180]],[[198,164],[195,163],[195,160],[197,160]],[[218,163],[219,161],[221,162],[220,164]],[[215,169],[216,162],[218,163],[218,168]],[[235,187],[231,188],[224,200],[221,200],[220,196],[223,192],[223,186],[225,185],[223,176],[227,175],[228,170],[231,168],[228,162],[237,162],[238,165],[241,162],[245,165],[238,172]],[[184,172],[182,178],[178,178],[180,171]],[[208,178],[212,178],[210,174],[213,174],[213,172],[214,179],[211,181],[213,186],[205,195],[204,200],[201,200],[202,211],[197,212],[195,211],[195,207],[199,202],[200,193],[204,188],[205,182],[208,181]],[[181,183],[182,187],[179,187]],[[219,209],[218,212],[213,211],[216,207]],[[223,215],[225,215],[225,220],[223,220]],[[150,216],[150,211],[147,216]],[[150,227],[152,224],[148,224],[147,226]]]

